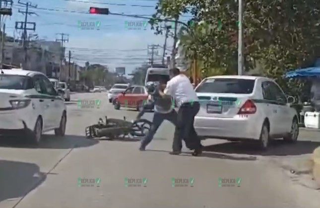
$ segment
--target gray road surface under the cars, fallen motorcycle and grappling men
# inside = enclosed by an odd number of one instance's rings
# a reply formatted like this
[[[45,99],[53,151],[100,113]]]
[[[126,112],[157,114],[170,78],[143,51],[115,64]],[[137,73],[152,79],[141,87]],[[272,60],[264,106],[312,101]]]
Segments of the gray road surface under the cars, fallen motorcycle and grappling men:
[[[80,109],[77,99],[101,99],[101,106]],[[320,146],[319,132],[301,131],[296,144],[275,141],[266,152],[207,139],[201,157],[185,148],[182,155],[168,154],[174,131],[169,122],[145,152],[138,151],[138,140],[84,137],[99,117],[131,120],[136,114],[115,110],[106,93],[73,94],[64,138],[49,132],[39,146],[2,138],[0,208],[320,208],[320,191],[295,183],[283,165],[308,157]],[[80,186],[78,178],[84,179]]]

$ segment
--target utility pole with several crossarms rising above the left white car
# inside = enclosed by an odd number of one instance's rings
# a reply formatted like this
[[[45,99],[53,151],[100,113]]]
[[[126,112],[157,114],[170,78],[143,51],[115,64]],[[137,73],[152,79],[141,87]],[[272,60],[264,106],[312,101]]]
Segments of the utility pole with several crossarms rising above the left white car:
[[[24,63],[25,63],[25,68],[27,66],[27,61],[28,61],[28,42],[27,42],[27,30],[36,30],[36,23],[35,22],[28,22],[28,14],[36,14],[35,12],[30,12],[28,11],[29,7],[37,8],[38,5],[32,5],[31,2],[23,3],[20,0],[18,1],[19,4],[25,5],[26,10],[25,11],[20,11],[20,13],[25,14],[24,21],[23,22],[15,22],[15,29],[23,29],[23,48],[24,48]],[[28,28],[27,25],[32,24],[32,28]]]

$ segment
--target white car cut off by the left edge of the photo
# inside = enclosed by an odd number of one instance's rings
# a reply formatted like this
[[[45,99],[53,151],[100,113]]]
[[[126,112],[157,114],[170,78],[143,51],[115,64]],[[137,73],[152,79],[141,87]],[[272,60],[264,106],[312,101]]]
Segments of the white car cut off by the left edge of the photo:
[[[66,106],[49,79],[21,69],[0,74],[0,134],[27,135],[39,143],[43,132],[64,136]],[[25,137],[23,137],[25,138]]]

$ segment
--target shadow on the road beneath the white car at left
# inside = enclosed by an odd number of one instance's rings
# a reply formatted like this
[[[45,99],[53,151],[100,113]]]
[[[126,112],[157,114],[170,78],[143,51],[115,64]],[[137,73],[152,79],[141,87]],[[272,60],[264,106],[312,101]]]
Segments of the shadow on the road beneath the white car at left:
[[[28,142],[25,137],[2,137],[0,147],[14,148],[37,148],[37,149],[71,149],[88,147],[99,143],[99,140],[86,139],[84,136],[65,135],[56,137],[55,135],[44,134],[40,144],[35,145]]]

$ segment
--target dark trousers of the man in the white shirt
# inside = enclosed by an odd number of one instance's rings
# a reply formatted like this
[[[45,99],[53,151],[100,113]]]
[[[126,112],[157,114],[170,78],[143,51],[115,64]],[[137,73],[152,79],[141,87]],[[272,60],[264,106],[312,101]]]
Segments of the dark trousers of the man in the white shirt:
[[[201,148],[201,141],[196,134],[193,126],[194,116],[199,112],[198,102],[182,104],[178,111],[178,120],[173,139],[173,151],[181,151],[182,140],[185,141],[187,148],[195,150]]]

